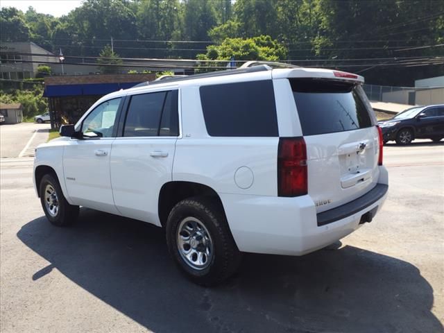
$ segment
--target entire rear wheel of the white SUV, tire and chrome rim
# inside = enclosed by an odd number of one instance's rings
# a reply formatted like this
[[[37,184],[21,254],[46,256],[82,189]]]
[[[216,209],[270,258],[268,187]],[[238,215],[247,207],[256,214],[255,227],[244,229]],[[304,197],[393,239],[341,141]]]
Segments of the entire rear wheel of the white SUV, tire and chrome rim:
[[[169,214],[166,234],[169,253],[197,284],[220,284],[239,267],[241,253],[216,200],[196,197],[180,201]]]

